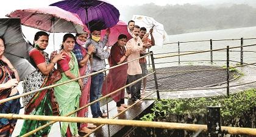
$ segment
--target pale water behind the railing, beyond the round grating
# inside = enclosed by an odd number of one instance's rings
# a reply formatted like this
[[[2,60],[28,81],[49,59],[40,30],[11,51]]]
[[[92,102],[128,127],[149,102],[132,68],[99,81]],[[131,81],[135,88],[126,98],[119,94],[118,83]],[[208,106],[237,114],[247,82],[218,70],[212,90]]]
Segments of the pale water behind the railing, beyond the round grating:
[[[207,40],[204,42],[196,42],[196,43],[180,43],[180,52],[181,52],[180,54],[185,54],[183,53],[185,51],[208,51],[210,50],[210,39],[223,40],[223,39],[256,38],[255,32],[256,32],[256,27],[244,27],[244,28],[238,28],[238,29],[214,30],[214,31],[207,31],[207,32],[194,32],[194,33],[184,33],[180,35],[169,35],[165,43],[175,43],[175,44],[164,44],[163,46],[154,46],[151,48],[151,50],[154,52],[154,54],[159,54],[164,52],[177,52],[178,41],[184,42],[184,41]],[[243,41],[243,45],[248,45],[248,44],[256,44],[256,40]],[[213,41],[213,49],[226,48],[227,46],[235,47],[240,45],[241,45],[240,40]],[[230,60],[240,61],[240,50],[241,48],[230,49]],[[244,63],[252,63],[256,61],[256,46],[243,47],[243,51],[244,51],[243,53]],[[247,51],[250,51],[250,52],[247,52]],[[168,55],[176,55],[176,54],[177,53],[168,54]],[[162,55],[155,55],[155,56],[159,57]],[[210,52],[180,56],[180,61],[185,61],[185,60],[190,60],[190,61],[191,60],[210,60]],[[213,60],[225,61],[226,50],[213,52]],[[168,62],[178,61],[178,57],[161,58],[161,59],[155,60],[155,63],[166,62],[166,61]],[[177,62],[172,63],[172,65],[177,65]]]

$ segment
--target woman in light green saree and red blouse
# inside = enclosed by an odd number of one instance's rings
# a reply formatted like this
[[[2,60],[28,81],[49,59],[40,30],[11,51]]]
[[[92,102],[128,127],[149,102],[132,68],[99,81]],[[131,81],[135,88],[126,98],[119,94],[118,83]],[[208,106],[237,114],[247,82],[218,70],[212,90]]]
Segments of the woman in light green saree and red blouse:
[[[57,61],[58,68],[62,71],[62,79],[57,83],[80,77],[76,55],[72,52],[75,41],[76,38],[71,33],[66,33],[63,36],[62,49],[60,52],[63,53],[65,57],[63,60]],[[82,80],[79,79],[54,88],[54,94],[59,104],[60,116],[65,116],[71,111],[76,110],[76,108],[79,108],[80,88],[82,88],[82,86]],[[76,113],[71,116],[76,117]],[[60,132],[62,136],[77,136],[77,123],[61,122]]]

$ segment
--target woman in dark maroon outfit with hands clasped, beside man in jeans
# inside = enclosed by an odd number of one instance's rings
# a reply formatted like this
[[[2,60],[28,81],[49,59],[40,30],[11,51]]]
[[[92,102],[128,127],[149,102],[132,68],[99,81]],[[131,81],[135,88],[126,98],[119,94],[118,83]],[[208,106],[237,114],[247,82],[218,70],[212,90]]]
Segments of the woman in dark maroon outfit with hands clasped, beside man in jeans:
[[[126,41],[126,35],[121,34],[118,37],[118,41],[111,47],[110,57],[108,58],[110,67],[124,63],[127,61],[128,55],[132,53],[129,49],[126,51],[126,47],[124,47]],[[126,85],[127,69],[128,65],[126,64],[109,70],[102,86],[102,94],[104,96]],[[124,104],[124,89],[113,94],[111,97],[116,102],[117,110],[122,111],[128,107],[128,105]]]

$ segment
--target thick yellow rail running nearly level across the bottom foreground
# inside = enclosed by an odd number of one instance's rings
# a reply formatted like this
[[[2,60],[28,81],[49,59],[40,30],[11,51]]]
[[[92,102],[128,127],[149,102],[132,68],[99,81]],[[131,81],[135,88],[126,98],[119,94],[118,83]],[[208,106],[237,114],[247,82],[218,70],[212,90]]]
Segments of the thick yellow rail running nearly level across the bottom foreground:
[[[1,118],[7,119],[27,119],[37,121],[61,121],[61,122],[80,122],[80,123],[93,123],[93,124],[110,124],[110,125],[126,125],[135,127],[154,127],[154,128],[165,128],[165,129],[179,129],[207,131],[207,125],[200,124],[181,124],[173,122],[153,122],[153,121],[134,121],[124,119],[98,119],[98,118],[76,118],[76,117],[65,117],[65,116],[39,116],[39,115],[26,115],[26,114],[0,114]],[[226,131],[232,135],[250,135],[256,136],[256,128],[241,128],[241,127],[224,127],[221,126],[222,131]]]

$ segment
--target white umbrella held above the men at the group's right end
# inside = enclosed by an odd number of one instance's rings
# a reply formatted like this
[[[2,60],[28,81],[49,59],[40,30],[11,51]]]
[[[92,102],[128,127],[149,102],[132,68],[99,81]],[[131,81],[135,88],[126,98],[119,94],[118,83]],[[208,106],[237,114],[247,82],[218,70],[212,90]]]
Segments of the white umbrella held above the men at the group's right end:
[[[133,15],[132,20],[135,21],[135,24],[140,27],[146,27],[147,30],[153,28],[153,36],[155,39],[155,45],[163,45],[163,42],[166,38],[166,32],[163,28],[163,24],[155,21],[154,18],[144,15]]]

